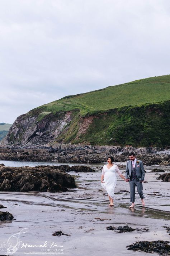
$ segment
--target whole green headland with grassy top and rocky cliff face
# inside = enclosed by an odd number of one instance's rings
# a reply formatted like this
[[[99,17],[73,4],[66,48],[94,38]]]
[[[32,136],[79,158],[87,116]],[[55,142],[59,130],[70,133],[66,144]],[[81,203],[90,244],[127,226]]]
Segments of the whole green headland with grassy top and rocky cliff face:
[[[5,146],[170,146],[170,75],[66,96],[17,118]]]

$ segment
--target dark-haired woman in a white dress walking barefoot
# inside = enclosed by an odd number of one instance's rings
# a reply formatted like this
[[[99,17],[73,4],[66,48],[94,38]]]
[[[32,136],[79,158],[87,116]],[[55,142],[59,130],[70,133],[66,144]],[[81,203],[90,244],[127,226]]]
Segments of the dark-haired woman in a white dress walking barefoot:
[[[117,178],[116,172],[121,176],[123,180],[126,181],[124,176],[119,171],[117,165],[113,163],[114,158],[108,157],[108,164],[103,166],[102,174],[101,174],[101,186],[107,191],[110,204],[108,206],[113,206],[113,199],[114,199],[114,189],[116,187]]]

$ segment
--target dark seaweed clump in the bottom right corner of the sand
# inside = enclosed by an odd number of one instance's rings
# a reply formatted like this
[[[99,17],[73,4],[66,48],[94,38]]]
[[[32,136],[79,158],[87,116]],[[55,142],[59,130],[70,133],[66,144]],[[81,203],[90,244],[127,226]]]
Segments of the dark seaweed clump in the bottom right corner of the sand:
[[[143,252],[156,252],[159,255],[170,255],[170,246],[168,244],[168,241],[140,241],[133,244],[130,244],[126,247],[128,247],[128,250],[133,251],[143,251]]]

